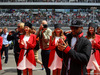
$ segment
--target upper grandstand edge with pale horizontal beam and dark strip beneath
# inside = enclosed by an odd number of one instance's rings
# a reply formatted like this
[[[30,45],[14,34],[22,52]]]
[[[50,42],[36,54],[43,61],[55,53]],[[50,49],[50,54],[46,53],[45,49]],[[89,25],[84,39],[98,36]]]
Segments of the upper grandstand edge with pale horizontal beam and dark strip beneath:
[[[100,0],[0,0],[0,8],[90,8],[100,7]]]

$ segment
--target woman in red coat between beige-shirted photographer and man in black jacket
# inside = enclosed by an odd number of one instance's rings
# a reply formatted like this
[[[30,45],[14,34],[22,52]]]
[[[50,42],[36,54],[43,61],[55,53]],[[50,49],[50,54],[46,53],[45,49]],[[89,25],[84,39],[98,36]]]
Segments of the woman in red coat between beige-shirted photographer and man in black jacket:
[[[49,48],[51,50],[49,56],[48,67],[53,70],[53,75],[60,75],[60,71],[62,68],[62,59],[56,53],[57,42],[60,40],[65,40],[63,35],[63,31],[61,30],[61,25],[55,24],[55,30],[52,32],[52,36],[50,37]]]

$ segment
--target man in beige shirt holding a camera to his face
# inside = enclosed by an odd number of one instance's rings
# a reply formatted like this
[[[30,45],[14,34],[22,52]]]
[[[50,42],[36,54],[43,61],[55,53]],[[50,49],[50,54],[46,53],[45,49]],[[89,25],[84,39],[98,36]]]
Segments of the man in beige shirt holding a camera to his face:
[[[50,75],[50,69],[48,68],[49,61],[49,40],[52,35],[52,30],[48,28],[47,21],[43,20],[38,32],[36,33],[37,37],[39,37],[40,48],[41,48],[41,57],[44,68],[46,69],[46,75]]]

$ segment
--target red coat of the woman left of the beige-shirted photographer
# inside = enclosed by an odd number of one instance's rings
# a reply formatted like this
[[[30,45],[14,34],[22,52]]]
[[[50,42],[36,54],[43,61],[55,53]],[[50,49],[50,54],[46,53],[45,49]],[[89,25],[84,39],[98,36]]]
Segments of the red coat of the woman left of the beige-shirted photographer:
[[[20,36],[20,41],[23,40],[25,35],[21,35]],[[29,40],[30,42],[29,45],[27,45],[27,49],[30,49],[28,54],[26,54],[26,58],[33,64],[36,66],[36,61],[35,61],[35,57],[34,57],[34,47],[36,46],[36,35],[34,34],[31,34],[30,37],[29,37]],[[23,57],[24,57],[24,45],[22,45],[21,43],[19,43],[19,47],[21,48],[21,51],[20,51],[20,55],[19,55],[19,60],[18,60],[18,64],[23,60]]]

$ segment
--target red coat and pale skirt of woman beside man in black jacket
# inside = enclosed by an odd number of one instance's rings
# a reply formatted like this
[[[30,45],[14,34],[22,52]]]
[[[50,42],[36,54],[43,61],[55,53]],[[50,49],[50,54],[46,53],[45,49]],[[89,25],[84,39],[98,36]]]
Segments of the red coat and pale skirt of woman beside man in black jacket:
[[[51,70],[55,70],[55,69],[61,69],[62,68],[62,59],[57,55],[55,49],[55,43],[57,40],[59,40],[60,37],[55,38],[53,41],[51,40],[50,37],[50,43],[49,43],[49,49],[50,51],[50,55],[49,55],[49,63],[48,63],[48,68]],[[59,62],[59,63],[58,63]]]

